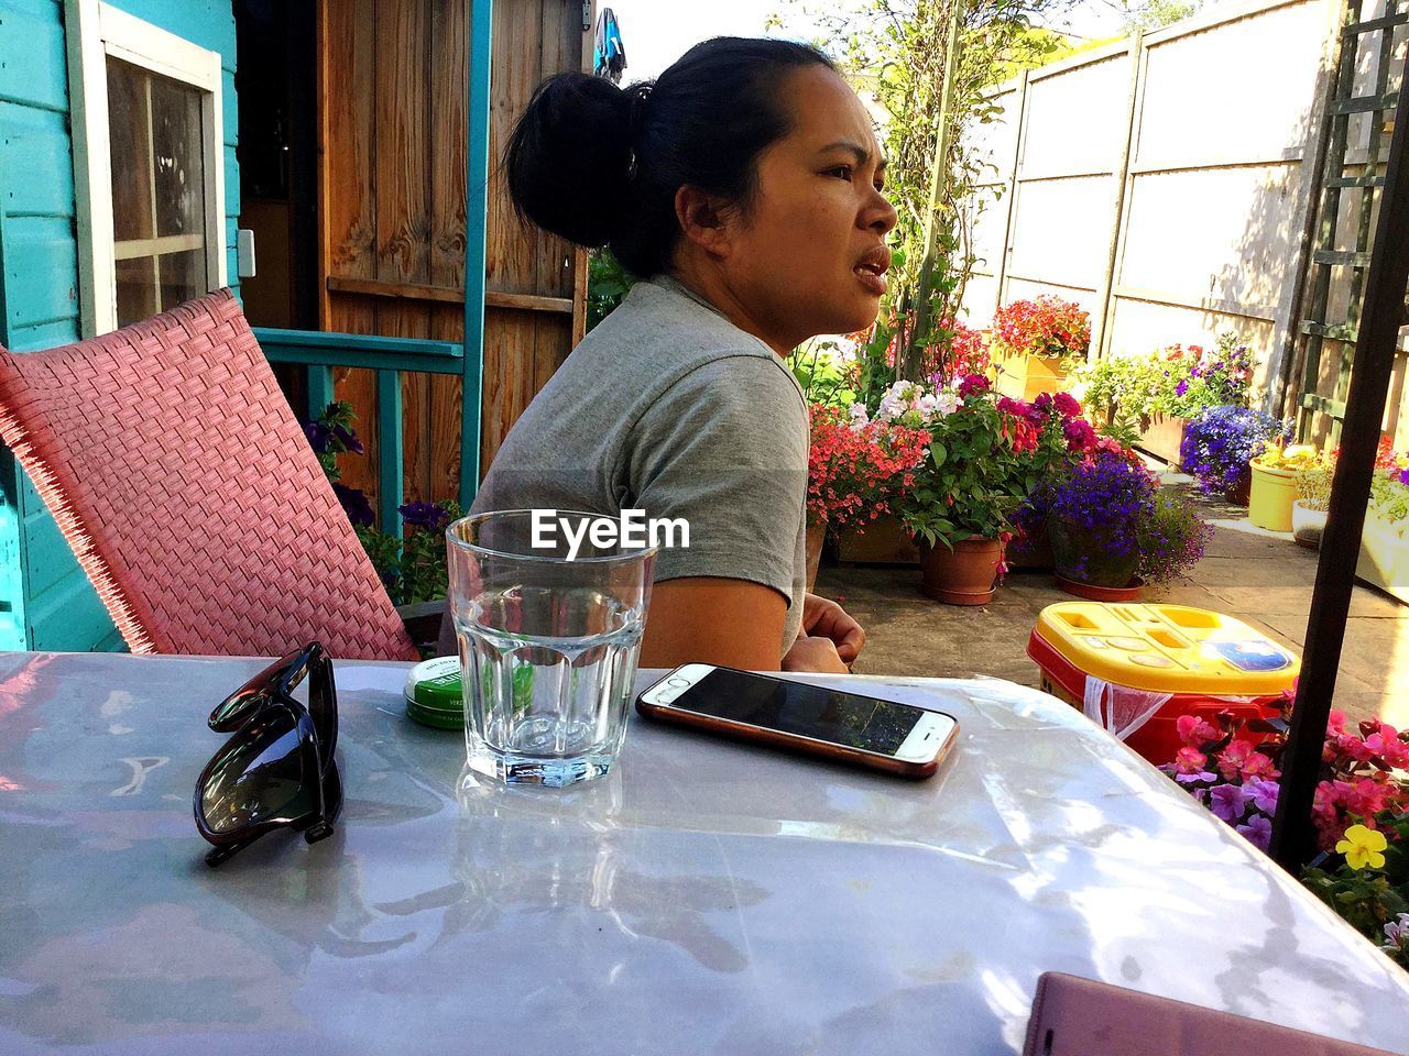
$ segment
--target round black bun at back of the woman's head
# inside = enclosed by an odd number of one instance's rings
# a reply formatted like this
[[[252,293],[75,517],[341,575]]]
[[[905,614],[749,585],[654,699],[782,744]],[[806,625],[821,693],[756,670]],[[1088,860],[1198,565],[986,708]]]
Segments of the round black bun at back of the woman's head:
[[[520,218],[578,245],[612,241],[628,197],[644,90],[586,73],[558,73],[537,87],[504,152]]]

